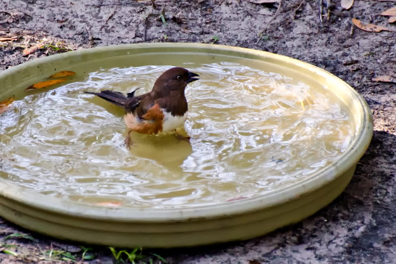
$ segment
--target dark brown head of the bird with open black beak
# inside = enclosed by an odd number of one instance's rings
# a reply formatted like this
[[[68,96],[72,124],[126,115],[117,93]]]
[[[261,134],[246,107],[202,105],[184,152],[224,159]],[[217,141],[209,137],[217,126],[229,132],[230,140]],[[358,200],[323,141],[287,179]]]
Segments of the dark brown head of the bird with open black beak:
[[[184,92],[187,84],[197,81],[197,73],[186,70],[185,68],[171,68],[156,80],[153,91],[180,91]]]

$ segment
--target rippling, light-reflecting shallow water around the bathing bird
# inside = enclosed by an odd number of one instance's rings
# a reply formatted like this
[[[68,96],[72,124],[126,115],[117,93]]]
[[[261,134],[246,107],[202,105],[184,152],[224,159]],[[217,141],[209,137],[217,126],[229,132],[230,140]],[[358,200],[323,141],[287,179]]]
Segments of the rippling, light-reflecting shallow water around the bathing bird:
[[[0,117],[0,177],[82,203],[192,207],[287,188],[353,140],[345,106],[323,87],[221,62],[185,65],[200,75],[186,90],[180,129],[191,144],[133,133],[128,151],[123,110],[83,92],[146,93],[169,67],[87,72],[15,102]]]

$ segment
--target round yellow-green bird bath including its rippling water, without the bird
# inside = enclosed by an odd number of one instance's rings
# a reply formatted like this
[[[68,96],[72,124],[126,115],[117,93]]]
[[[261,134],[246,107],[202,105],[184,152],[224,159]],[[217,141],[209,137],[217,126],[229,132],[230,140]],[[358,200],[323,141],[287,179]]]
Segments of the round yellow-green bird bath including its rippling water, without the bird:
[[[83,94],[148,92],[166,69],[200,75],[183,134],[126,135],[122,110]],[[66,82],[26,87],[58,71]],[[345,82],[277,54],[202,44],[63,53],[0,73],[0,215],[57,238],[119,247],[243,240],[295,223],[347,186],[372,136]]]

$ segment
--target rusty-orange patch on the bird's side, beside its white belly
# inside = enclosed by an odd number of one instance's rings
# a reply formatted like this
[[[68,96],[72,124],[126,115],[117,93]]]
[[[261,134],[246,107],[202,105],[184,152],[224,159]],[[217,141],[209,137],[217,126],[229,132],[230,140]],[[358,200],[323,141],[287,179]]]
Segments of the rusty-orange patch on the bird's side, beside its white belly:
[[[134,131],[141,134],[158,134],[162,132],[162,121],[164,114],[158,104],[155,104],[143,116],[143,122],[140,123]]]

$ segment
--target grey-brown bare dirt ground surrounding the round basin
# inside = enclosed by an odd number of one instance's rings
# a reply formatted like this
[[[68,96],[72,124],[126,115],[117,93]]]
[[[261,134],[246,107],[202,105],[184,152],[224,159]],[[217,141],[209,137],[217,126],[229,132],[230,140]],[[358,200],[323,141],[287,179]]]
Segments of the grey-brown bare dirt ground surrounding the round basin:
[[[374,114],[373,140],[345,192],[263,237],[154,253],[172,264],[395,263],[396,85],[372,78],[396,77],[396,25],[379,15],[396,0],[355,0],[348,10],[323,0],[322,22],[320,2],[283,0],[275,16],[278,3],[247,0],[0,0],[0,38],[14,39],[0,42],[0,70],[68,50],[165,41],[252,48],[324,68],[354,87]],[[363,31],[351,18],[394,32]],[[25,48],[31,53],[23,56]],[[81,248],[62,243],[0,218],[0,264],[116,263],[108,249],[89,250],[95,259],[82,260]]]

